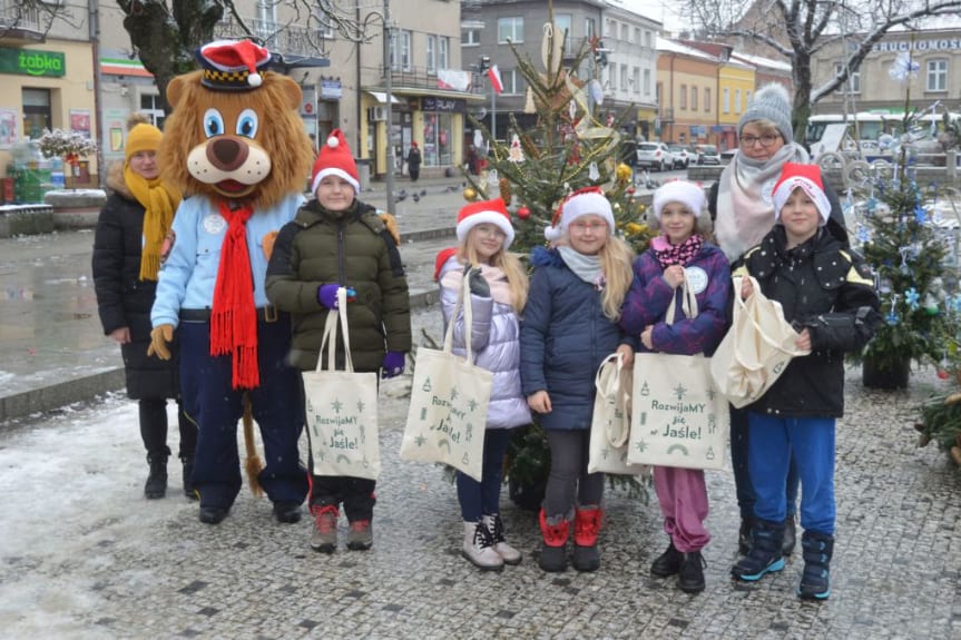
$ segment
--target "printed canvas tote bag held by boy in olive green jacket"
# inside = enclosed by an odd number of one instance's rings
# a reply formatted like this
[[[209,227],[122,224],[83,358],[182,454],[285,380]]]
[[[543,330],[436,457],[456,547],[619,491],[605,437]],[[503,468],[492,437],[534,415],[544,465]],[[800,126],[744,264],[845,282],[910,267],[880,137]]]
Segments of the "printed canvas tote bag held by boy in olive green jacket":
[[[315,475],[376,480],[381,473],[377,374],[354,372],[343,287],[337,289],[337,307],[327,313],[317,370],[303,374],[312,470]],[[344,334],[344,371],[336,370],[337,324]]]

